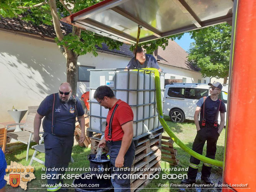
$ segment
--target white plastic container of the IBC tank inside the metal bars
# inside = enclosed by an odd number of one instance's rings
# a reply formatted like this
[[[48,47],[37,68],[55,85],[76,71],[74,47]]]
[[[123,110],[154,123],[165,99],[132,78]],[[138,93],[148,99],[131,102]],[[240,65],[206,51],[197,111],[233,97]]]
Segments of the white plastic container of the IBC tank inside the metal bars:
[[[104,70],[103,70],[104,71]],[[95,76],[96,73],[94,73]],[[144,73],[128,70],[116,70],[111,72],[107,70],[106,73],[100,73],[100,75],[105,75],[101,79],[109,79],[108,75],[115,74],[116,76],[111,79],[114,80],[111,87],[115,89],[115,97],[121,99],[122,101],[128,103],[131,106],[132,112],[134,114],[133,122],[133,132],[134,137],[139,137],[140,135],[147,134],[149,131],[157,129],[161,124],[158,121],[156,112],[156,92],[151,91],[155,89],[155,78],[154,73]],[[129,74],[129,78],[128,78]],[[94,77],[95,82],[100,82],[97,80],[97,76]],[[102,82],[100,82],[102,83]],[[95,83],[94,83],[95,84]],[[164,75],[160,76],[161,89],[164,89]],[[91,85],[91,82],[90,82]],[[99,85],[94,85],[90,88],[90,129],[97,130],[99,132],[104,132],[106,117],[109,112],[108,109],[101,107],[97,100],[93,98],[94,92]],[[145,91],[144,91],[145,90]],[[161,91],[161,100],[164,100],[164,91]]]

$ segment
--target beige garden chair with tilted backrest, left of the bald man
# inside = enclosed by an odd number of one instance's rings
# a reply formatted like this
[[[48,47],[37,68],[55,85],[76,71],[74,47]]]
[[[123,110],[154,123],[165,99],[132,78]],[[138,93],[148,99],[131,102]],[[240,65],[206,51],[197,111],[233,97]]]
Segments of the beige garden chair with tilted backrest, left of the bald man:
[[[28,107],[28,115],[27,115],[25,124],[10,124],[6,126],[8,129],[8,127],[11,127],[11,126],[24,125],[23,131],[7,133],[7,137],[10,137],[12,139],[22,142],[23,144],[28,145],[26,160],[28,160],[28,150],[30,148],[30,142],[34,141],[32,135],[34,133],[34,119],[35,119],[35,114],[37,112],[37,109],[38,109],[38,106]],[[44,133],[42,124],[40,126],[39,133],[40,134]]]

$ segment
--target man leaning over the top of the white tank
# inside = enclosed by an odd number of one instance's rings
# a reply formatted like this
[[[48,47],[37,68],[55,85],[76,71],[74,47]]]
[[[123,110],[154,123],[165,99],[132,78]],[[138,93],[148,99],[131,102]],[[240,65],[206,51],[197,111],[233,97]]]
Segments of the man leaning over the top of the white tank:
[[[135,50],[134,50],[135,55]],[[127,65],[126,68],[156,68],[159,72],[162,72],[161,68],[159,67],[156,59],[153,55],[145,54],[141,47],[137,48],[136,52],[136,60],[132,57],[131,61]]]

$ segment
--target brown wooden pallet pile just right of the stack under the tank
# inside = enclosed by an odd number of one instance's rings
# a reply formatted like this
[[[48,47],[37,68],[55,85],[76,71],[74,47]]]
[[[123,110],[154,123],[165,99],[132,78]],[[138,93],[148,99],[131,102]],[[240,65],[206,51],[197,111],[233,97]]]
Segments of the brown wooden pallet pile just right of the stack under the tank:
[[[173,143],[174,140],[172,140],[171,137],[162,136],[162,161],[177,166],[179,160],[176,158],[177,150],[173,148]]]

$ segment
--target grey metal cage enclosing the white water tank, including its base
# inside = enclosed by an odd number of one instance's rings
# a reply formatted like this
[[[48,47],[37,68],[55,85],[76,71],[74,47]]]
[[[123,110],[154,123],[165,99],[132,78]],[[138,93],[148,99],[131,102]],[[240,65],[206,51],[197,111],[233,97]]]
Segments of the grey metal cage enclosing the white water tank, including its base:
[[[133,140],[151,135],[157,137],[163,132],[156,109],[156,86],[154,72],[147,69],[89,69],[90,71],[90,127],[87,135],[104,134],[109,109],[100,106],[93,95],[101,85],[110,87],[117,99],[130,105],[134,113]],[[164,109],[164,74],[160,73],[161,101]],[[157,134],[154,134],[157,132]],[[154,135],[154,136],[153,136]]]

